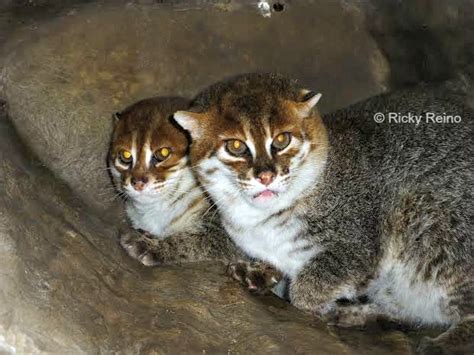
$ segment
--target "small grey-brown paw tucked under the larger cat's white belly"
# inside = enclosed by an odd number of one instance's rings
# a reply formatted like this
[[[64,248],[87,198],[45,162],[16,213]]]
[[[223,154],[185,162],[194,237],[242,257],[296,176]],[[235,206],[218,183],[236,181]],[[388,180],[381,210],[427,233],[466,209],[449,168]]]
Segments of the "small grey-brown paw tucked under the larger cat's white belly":
[[[329,325],[341,328],[364,327],[376,320],[372,308],[368,304],[339,306],[324,316]]]

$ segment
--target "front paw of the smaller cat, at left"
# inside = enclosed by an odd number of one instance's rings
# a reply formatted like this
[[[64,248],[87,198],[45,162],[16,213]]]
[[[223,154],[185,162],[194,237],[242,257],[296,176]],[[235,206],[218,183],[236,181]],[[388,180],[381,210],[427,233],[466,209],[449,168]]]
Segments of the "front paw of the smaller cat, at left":
[[[133,259],[145,266],[161,264],[157,253],[156,240],[150,235],[128,231],[120,234],[120,245]]]

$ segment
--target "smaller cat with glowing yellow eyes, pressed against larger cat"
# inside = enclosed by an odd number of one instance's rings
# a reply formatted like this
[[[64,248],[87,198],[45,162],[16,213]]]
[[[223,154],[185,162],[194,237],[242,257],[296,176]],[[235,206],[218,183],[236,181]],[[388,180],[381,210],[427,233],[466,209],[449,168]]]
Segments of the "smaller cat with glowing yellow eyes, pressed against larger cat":
[[[145,265],[238,254],[188,166],[189,137],[171,119],[187,104],[156,97],[116,114],[109,170],[131,226],[140,231],[122,231],[120,242]]]

